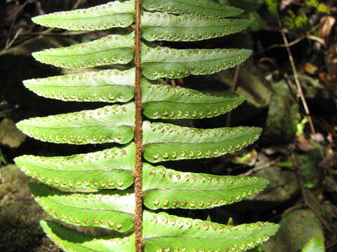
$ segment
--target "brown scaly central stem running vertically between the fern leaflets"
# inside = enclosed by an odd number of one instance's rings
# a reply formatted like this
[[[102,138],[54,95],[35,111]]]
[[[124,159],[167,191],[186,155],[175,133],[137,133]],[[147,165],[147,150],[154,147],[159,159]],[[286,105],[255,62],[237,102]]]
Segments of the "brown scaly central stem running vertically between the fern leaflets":
[[[135,235],[136,235],[136,252],[143,250],[142,235],[142,217],[143,217],[143,190],[142,190],[142,92],[140,90],[140,80],[142,78],[140,65],[140,11],[142,1],[136,0],[135,6],[135,66],[136,66],[136,83],[135,83],[135,101],[136,101],[136,166],[135,166],[135,194],[136,194],[136,210],[135,210]]]

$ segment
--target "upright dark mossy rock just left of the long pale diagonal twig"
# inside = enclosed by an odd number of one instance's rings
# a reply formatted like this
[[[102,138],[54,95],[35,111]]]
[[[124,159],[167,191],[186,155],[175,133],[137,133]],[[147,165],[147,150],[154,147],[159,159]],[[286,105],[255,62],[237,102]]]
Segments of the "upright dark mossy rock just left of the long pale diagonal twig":
[[[263,144],[285,144],[293,141],[300,121],[298,102],[284,82],[272,85],[272,97],[263,133]]]

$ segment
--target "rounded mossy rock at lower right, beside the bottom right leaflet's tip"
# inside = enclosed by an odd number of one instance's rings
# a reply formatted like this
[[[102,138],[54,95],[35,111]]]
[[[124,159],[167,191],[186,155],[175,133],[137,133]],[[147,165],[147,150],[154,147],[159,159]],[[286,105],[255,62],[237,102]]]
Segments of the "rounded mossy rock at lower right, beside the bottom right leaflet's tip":
[[[265,252],[298,252],[313,237],[324,241],[322,225],[312,211],[300,209],[282,217],[279,231],[263,244]]]

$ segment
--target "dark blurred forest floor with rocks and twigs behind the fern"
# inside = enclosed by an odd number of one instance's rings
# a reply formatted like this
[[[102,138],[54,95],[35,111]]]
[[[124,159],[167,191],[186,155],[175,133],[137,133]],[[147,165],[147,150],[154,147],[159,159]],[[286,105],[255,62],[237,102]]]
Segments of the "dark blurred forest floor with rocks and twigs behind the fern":
[[[337,3],[334,0],[218,0],[245,10],[251,27],[239,34],[193,43],[159,43],[176,48],[250,48],[241,66],[210,76],[166,83],[197,90],[229,90],[246,97],[229,115],[171,123],[212,128],[263,127],[249,148],[209,160],[169,162],[167,168],[218,175],[253,175],[270,181],[260,195],[206,211],[170,211],[192,218],[234,224],[280,223],[265,252],[297,252],[312,237],[337,251]],[[34,25],[36,15],[87,8],[98,0],[0,0],[0,251],[60,251],[39,228],[50,217],[29,193],[32,181],[13,164],[23,154],[72,155],[111,145],[42,143],[18,131],[15,123],[105,104],[59,102],[38,97],[22,80],[65,73],[33,59],[32,52],[93,39],[119,31],[64,31]],[[97,70],[97,69],[96,69]],[[96,71],[90,69],[90,71]],[[85,69],[88,71],[88,69]],[[78,72],[78,71],[77,71]]]

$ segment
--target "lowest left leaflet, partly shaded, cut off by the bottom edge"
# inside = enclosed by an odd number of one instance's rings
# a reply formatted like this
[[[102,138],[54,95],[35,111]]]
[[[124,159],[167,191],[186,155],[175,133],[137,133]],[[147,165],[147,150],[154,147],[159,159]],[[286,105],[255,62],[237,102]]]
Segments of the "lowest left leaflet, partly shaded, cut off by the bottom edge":
[[[40,224],[48,237],[67,252],[135,252],[134,235],[93,237],[82,232],[71,230],[70,228],[65,228],[53,221],[41,221]]]

